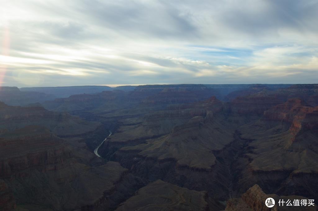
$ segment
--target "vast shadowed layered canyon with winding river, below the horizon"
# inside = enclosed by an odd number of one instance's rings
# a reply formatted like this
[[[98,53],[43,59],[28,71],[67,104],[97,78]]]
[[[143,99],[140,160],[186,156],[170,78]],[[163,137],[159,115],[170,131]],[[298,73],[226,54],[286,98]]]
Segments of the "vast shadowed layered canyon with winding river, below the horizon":
[[[318,200],[317,84],[2,88],[1,96],[4,211],[261,211],[287,210],[267,208],[268,197]]]

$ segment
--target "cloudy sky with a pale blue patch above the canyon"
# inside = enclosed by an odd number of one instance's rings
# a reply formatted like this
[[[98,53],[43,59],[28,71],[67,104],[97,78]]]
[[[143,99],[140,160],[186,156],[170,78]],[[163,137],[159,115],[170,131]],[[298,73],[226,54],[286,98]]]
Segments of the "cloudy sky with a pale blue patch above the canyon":
[[[318,0],[0,5],[0,86],[318,82]]]

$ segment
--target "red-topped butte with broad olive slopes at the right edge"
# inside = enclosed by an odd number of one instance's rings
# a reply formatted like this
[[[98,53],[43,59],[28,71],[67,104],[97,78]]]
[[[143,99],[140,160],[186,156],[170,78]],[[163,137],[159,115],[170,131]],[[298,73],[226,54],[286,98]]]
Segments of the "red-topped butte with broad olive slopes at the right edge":
[[[264,112],[259,121],[240,127],[242,137],[252,141],[245,154],[249,160],[243,171],[246,179],[239,184],[258,183],[267,192],[316,199],[317,109],[290,99]],[[271,182],[275,185],[270,186]]]

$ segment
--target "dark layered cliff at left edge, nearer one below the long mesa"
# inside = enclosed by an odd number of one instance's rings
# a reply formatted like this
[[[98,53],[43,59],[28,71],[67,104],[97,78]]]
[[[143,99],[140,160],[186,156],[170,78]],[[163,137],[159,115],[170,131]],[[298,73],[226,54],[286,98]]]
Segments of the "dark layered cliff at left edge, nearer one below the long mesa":
[[[38,126],[28,126],[0,137],[0,177],[25,176],[24,170],[34,168],[40,172],[61,168],[70,157],[65,142]]]

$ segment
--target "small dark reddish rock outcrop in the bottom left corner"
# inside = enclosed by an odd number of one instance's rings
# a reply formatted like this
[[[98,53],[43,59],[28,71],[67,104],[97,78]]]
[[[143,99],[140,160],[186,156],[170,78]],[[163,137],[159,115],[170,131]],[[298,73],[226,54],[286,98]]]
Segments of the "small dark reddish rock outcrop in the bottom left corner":
[[[13,211],[17,207],[16,201],[7,184],[0,179],[0,210]]]

